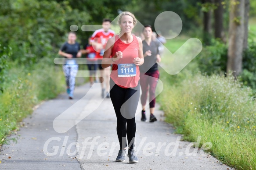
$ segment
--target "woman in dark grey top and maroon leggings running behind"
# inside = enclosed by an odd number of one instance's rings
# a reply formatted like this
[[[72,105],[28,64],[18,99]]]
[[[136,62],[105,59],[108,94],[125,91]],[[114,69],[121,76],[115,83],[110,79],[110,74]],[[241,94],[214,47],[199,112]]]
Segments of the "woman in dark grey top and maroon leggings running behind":
[[[140,66],[140,83],[141,83],[141,121],[146,121],[145,106],[149,90],[149,108],[150,108],[150,122],[156,121],[154,116],[155,111],[155,89],[159,79],[158,64],[161,61],[159,55],[159,43],[152,40],[151,25],[145,25],[143,28],[143,35],[145,39],[143,44],[144,64]]]

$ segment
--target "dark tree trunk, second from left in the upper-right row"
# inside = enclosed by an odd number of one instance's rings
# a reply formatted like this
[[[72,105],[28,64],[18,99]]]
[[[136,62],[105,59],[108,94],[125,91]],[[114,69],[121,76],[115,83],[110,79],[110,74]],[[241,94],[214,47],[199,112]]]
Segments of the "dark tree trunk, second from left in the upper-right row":
[[[215,38],[222,39],[223,36],[223,5],[221,4],[223,0],[214,0],[217,8],[214,10],[214,35]]]

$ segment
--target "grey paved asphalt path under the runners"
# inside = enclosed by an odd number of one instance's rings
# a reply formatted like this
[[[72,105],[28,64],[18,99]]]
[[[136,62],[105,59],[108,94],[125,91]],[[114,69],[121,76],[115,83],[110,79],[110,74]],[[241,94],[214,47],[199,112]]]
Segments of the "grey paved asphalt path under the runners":
[[[20,131],[10,136],[18,142],[3,146],[0,170],[232,169],[190,147],[191,142],[181,141],[181,135],[174,134],[173,127],[163,121],[159,105],[154,123],[141,122],[138,106],[135,149],[139,163],[128,163],[127,156],[124,163],[115,162],[119,144],[111,99],[101,99],[100,84],[89,89],[89,84],[76,87],[73,100],[61,94],[41,103],[23,120]]]

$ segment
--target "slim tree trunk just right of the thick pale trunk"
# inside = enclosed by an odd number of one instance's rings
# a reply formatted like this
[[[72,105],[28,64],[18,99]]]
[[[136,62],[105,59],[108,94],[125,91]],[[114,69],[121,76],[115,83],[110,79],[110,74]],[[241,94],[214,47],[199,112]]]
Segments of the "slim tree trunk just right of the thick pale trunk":
[[[244,35],[244,43],[243,43],[243,50],[248,48],[248,26],[249,26],[249,10],[250,10],[250,0],[245,0],[245,35]]]

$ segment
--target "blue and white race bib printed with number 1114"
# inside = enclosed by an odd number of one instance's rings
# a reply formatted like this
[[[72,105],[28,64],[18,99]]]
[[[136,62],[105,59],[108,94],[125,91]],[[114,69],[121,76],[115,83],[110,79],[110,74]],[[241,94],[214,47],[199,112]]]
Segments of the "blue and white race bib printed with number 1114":
[[[118,77],[134,77],[136,76],[135,64],[118,64]]]

